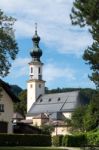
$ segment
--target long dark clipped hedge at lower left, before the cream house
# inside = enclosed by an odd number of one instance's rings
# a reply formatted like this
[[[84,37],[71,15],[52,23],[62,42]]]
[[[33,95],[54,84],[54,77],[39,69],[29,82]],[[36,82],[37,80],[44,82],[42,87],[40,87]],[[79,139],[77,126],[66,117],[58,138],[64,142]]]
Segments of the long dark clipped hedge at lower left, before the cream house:
[[[41,134],[0,134],[0,146],[51,146],[51,136]]]

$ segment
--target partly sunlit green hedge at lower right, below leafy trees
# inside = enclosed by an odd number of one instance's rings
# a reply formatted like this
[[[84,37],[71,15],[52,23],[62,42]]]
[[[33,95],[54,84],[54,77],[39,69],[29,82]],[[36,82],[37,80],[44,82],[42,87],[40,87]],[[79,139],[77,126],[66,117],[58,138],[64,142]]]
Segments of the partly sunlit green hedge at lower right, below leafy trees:
[[[52,138],[52,144],[53,146],[69,147],[99,146],[99,131],[65,136],[57,135]]]

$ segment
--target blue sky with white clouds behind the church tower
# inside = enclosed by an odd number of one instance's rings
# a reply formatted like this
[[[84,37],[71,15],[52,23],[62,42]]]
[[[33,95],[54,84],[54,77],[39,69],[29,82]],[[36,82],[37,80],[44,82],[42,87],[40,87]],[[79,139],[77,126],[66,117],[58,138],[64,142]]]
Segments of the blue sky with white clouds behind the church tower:
[[[72,6],[73,0],[0,0],[0,9],[17,19],[14,29],[19,46],[17,58],[4,81],[26,89],[37,23],[46,87],[95,88],[88,78],[90,66],[82,59],[84,50],[92,44],[92,37],[87,27],[71,24]]]

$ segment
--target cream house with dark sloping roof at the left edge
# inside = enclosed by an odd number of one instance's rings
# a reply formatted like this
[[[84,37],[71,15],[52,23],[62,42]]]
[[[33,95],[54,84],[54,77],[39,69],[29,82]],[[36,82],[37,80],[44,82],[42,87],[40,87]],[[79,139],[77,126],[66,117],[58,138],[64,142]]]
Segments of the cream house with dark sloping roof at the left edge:
[[[11,91],[11,87],[0,79],[0,133],[12,133],[12,117],[14,103],[19,99]]]

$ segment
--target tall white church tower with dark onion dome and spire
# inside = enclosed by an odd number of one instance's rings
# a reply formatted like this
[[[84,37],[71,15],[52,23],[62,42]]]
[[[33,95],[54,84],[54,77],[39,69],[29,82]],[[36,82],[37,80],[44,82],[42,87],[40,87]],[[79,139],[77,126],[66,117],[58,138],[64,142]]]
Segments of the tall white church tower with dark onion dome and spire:
[[[32,41],[34,47],[30,52],[32,60],[29,63],[29,81],[27,83],[27,112],[33,103],[45,93],[45,81],[42,79],[43,63],[40,60],[42,50],[39,47],[40,37],[37,34],[37,24],[35,24],[35,34]]]

